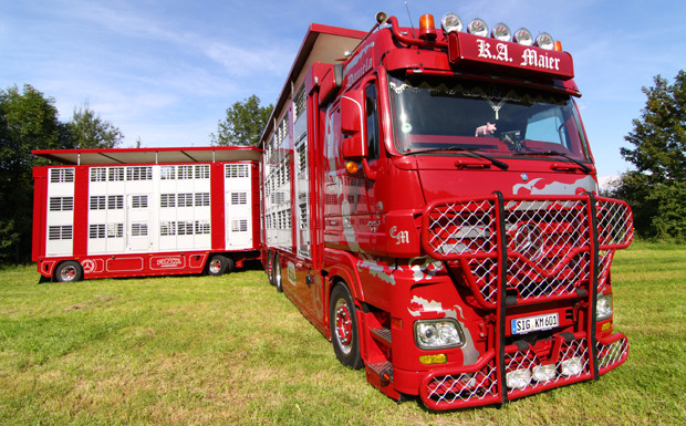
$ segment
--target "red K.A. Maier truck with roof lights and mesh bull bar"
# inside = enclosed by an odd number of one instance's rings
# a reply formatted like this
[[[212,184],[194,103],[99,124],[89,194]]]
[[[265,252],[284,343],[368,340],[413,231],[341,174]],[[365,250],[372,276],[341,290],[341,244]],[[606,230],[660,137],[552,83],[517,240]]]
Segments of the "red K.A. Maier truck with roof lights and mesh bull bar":
[[[446,13],[312,24],[264,129],[269,280],[392,398],[501,404],[628,354],[570,53]]]

